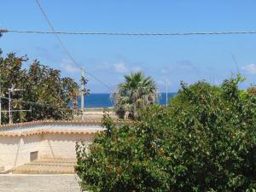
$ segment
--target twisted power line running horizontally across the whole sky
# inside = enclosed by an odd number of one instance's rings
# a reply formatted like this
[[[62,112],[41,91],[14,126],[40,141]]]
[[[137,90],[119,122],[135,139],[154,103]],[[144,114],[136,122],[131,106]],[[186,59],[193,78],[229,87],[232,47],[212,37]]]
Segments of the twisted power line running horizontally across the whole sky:
[[[106,36],[192,36],[192,35],[239,35],[256,34],[256,31],[226,31],[226,32],[64,32],[64,31],[29,31],[0,29],[0,32],[61,34],[61,35],[106,35]]]

